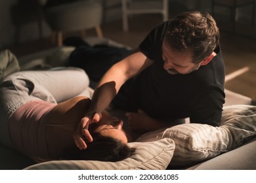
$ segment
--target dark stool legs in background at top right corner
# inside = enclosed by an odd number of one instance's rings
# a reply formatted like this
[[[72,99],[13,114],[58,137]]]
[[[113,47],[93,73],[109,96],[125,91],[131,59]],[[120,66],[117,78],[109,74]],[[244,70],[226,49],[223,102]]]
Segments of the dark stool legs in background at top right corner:
[[[237,8],[251,6],[251,26],[255,24],[255,0],[212,0],[211,13],[216,15],[217,7],[227,8],[230,12],[230,22],[232,23],[232,33],[236,32],[236,10]]]

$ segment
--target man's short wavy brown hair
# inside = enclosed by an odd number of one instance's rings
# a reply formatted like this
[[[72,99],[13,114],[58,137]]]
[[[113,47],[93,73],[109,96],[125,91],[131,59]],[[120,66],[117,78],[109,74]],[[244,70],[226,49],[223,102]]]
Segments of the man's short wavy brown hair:
[[[207,12],[182,12],[169,25],[165,41],[176,52],[191,50],[193,62],[200,63],[219,45],[219,28]]]

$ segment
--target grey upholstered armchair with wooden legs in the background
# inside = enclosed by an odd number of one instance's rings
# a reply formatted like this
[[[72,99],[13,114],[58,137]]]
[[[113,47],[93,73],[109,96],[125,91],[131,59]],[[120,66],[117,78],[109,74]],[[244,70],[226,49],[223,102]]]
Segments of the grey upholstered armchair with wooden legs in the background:
[[[99,0],[72,0],[56,3],[44,8],[46,22],[53,30],[53,41],[62,45],[63,33],[80,31],[85,35],[86,29],[95,28],[98,37],[102,37],[102,3]],[[61,1],[58,1],[61,2]],[[47,4],[46,4],[47,5]]]

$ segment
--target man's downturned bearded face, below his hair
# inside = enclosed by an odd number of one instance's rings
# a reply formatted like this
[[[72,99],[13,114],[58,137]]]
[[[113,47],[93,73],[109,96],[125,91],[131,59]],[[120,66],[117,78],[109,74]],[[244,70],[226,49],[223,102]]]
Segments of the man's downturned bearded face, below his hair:
[[[171,75],[188,74],[199,69],[200,65],[192,62],[192,52],[174,52],[171,46],[163,41],[163,69]]]

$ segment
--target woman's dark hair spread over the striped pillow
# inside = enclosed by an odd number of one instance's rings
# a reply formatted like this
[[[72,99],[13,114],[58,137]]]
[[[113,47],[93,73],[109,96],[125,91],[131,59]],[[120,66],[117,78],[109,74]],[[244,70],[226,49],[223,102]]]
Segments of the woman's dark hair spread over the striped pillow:
[[[79,150],[76,148],[67,158],[73,160],[98,160],[98,161],[121,161],[129,158],[134,148],[112,137],[102,136],[99,133],[91,133],[93,142],[86,142],[87,148]]]

